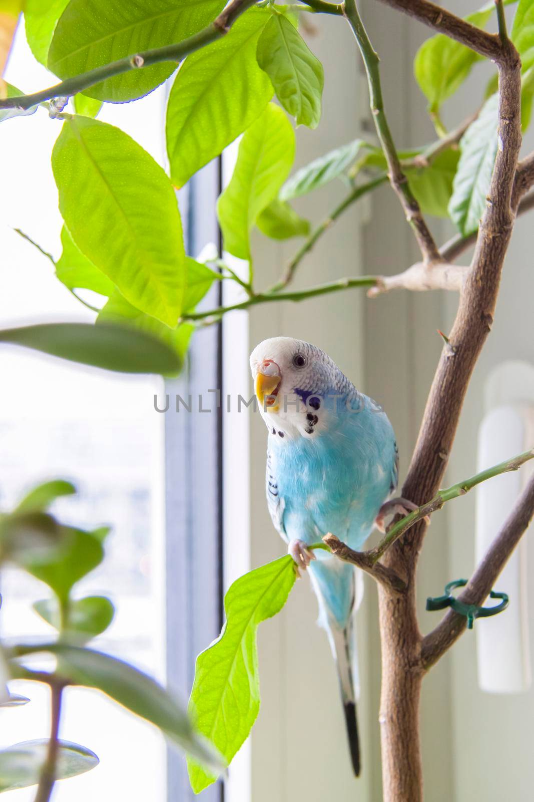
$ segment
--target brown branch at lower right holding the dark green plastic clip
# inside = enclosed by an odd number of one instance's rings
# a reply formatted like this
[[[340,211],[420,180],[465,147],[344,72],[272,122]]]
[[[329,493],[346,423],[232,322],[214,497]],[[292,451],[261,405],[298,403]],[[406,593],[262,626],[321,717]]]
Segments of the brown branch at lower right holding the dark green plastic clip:
[[[463,593],[458,597],[464,604],[480,606],[504,569],[522,535],[534,516],[534,475],[529,480],[516,506],[496,535],[488,552],[471,577]],[[425,669],[433,666],[460,638],[467,626],[467,619],[448,610],[436,629],[423,638],[421,660]]]

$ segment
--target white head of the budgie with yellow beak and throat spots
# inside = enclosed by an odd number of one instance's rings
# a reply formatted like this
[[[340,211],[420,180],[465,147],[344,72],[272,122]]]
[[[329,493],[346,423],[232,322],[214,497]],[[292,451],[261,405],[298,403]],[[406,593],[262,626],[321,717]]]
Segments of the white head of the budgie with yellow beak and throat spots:
[[[353,389],[323,350],[292,337],[260,342],[251,371],[267,427],[290,439],[318,435],[327,423],[327,398]]]

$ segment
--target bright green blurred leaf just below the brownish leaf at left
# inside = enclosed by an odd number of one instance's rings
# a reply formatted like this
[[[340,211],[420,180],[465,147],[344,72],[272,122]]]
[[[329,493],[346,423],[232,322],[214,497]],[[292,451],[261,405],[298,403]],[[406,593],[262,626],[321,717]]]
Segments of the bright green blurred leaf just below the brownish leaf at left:
[[[49,561],[32,561],[25,557],[23,567],[45,582],[62,604],[66,604],[76,582],[100,565],[104,549],[98,537],[82,529],[62,526],[62,545]]]

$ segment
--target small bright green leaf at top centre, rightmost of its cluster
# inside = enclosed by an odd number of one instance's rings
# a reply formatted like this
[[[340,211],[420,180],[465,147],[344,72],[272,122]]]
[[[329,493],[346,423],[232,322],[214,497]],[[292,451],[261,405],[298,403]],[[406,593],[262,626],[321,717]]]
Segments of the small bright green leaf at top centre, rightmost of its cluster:
[[[321,119],[323,65],[299,31],[282,14],[272,14],[258,40],[259,66],[267,72],[276,97],[296,124],[317,128]]]

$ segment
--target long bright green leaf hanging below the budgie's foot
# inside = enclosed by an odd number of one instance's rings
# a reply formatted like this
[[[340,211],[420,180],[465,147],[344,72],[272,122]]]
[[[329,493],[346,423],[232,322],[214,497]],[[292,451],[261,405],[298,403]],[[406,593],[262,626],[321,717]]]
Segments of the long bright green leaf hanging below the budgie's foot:
[[[224,597],[223,632],[196,660],[191,716],[227,763],[247,739],[259,711],[256,630],[282,610],[295,577],[295,563],[287,555],[236,580]],[[192,760],[188,769],[195,793],[216,779]]]

